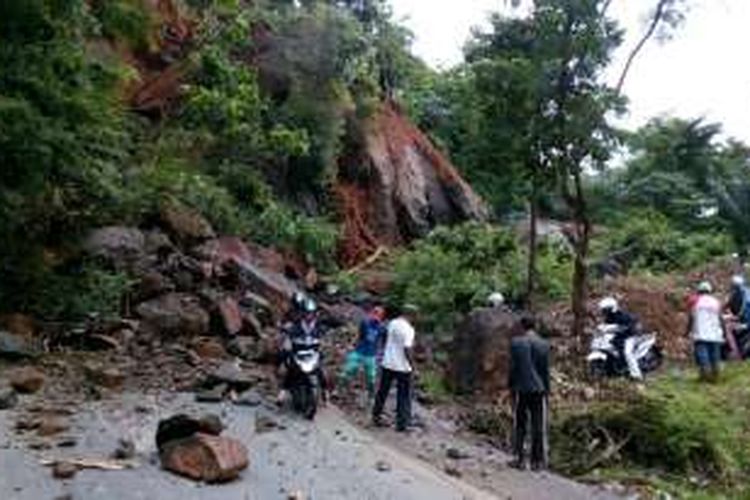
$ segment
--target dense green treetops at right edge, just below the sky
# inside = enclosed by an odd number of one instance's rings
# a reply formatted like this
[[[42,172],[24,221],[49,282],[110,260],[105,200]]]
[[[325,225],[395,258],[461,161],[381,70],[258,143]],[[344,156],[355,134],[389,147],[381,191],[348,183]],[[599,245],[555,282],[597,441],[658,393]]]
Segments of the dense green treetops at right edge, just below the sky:
[[[611,223],[648,208],[688,234],[726,231],[743,250],[750,241],[743,215],[750,207],[750,151],[719,142],[719,133],[716,124],[673,118],[632,134],[625,168],[590,182],[594,217]]]

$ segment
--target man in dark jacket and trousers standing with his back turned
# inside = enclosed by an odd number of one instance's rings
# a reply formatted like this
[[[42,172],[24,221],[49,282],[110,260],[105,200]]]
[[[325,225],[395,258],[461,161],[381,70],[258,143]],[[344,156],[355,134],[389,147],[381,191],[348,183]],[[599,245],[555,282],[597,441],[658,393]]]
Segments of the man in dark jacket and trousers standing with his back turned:
[[[524,469],[526,431],[531,420],[531,468],[547,468],[547,396],[549,343],[535,329],[531,316],[521,318],[523,333],[510,345],[508,387],[513,396],[513,451],[511,467]]]

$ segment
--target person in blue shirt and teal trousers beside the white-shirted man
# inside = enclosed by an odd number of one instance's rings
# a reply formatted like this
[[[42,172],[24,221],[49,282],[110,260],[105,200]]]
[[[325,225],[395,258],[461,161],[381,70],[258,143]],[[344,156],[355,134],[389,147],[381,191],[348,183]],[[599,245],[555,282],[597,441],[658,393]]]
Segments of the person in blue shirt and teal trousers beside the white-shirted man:
[[[367,394],[372,398],[375,394],[375,376],[377,374],[377,363],[375,357],[378,347],[385,336],[385,309],[380,306],[373,307],[367,317],[359,324],[359,339],[354,350],[346,356],[344,369],[339,379],[341,387],[347,388],[352,377],[359,373],[360,368],[365,371],[365,384]]]

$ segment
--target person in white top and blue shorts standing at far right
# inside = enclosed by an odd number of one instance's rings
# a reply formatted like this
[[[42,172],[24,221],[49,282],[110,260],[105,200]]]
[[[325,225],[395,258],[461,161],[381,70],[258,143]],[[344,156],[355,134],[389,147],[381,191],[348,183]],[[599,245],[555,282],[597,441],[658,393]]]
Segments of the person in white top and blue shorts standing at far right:
[[[702,380],[715,382],[719,377],[721,346],[726,329],[721,317],[721,302],[711,295],[708,281],[698,284],[698,297],[690,308],[687,333],[693,338],[695,362]]]

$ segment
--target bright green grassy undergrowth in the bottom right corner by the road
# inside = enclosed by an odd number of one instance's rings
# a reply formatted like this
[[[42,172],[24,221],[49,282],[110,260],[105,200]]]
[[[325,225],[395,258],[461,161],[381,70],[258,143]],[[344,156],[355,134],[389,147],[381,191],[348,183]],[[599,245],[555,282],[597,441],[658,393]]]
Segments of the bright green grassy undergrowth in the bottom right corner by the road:
[[[602,437],[603,429],[609,439],[625,444],[598,467],[630,471],[631,476],[654,477],[655,472],[667,478],[671,489],[687,486],[693,494],[739,495],[750,472],[748,376],[748,367],[737,364],[708,387],[695,375],[679,372],[632,401],[600,403],[586,413],[558,419],[553,425],[553,464],[570,474],[589,472],[601,453],[590,444]],[[652,473],[641,474],[644,470]],[[695,484],[678,479],[686,475],[706,480],[709,488],[696,490]],[[669,478],[675,483],[670,485]]]

